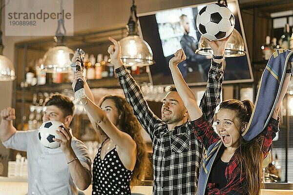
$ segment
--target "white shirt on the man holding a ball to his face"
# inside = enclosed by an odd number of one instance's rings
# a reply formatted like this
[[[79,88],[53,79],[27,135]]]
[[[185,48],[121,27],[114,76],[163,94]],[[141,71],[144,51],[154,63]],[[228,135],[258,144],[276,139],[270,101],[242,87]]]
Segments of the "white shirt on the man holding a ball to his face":
[[[62,149],[44,147],[39,140],[38,130],[17,131],[2,143],[6,148],[27,152],[28,195],[78,194]],[[72,137],[71,147],[90,173],[91,159],[84,143]]]

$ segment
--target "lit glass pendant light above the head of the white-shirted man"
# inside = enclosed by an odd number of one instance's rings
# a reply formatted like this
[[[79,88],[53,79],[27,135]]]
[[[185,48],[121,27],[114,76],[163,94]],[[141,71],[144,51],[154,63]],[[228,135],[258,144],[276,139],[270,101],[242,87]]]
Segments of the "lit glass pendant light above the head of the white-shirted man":
[[[59,0],[61,13],[63,10],[63,0]],[[71,59],[74,55],[74,51],[65,45],[66,29],[64,26],[64,20],[61,18],[58,20],[58,28],[56,30],[56,36],[54,41],[56,46],[50,48],[43,57],[44,70],[47,73],[67,73],[72,71]]]

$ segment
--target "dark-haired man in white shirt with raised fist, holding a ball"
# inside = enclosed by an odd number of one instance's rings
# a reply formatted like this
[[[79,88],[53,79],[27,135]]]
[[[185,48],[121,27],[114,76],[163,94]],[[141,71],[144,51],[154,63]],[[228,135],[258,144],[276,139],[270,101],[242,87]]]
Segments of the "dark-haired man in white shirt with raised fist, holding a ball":
[[[69,97],[53,95],[45,104],[43,121],[58,120],[65,128],[57,131],[60,147],[44,147],[38,130],[17,131],[12,120],[15,110],[1,111],[0,140],[6,148],[26,151],[28,159],[28,195],[77,195],[77,187],[85,190],[91,182],[91,160],[84,143],[72,136],[68,128],[74,104]]]

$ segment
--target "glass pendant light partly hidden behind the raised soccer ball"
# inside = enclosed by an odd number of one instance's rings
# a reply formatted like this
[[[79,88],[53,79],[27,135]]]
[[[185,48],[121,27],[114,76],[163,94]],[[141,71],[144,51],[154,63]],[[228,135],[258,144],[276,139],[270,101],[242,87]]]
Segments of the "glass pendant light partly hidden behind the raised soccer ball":
[[[218,0],[218,3],[221,3],[221,0]],[[226,0],[223,0],[222,4],[228,7]],[[243,38],[235,28],[232,32],[233,34],[226,44],[224,53],[225,58],[245,56],[245,46]],[[212,56],[213,54],[212,49],[209,47],[209,44],[204,41],[203,36],[201,36],[198,41],[198,49],[195,51],[195,53],[204,56]]]

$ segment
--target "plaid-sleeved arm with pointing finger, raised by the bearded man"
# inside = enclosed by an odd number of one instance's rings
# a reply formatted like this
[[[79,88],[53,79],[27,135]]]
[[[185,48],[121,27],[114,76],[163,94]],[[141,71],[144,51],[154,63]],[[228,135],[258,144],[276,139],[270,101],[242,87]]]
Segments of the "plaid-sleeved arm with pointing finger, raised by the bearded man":
[[[157,127],[159,123],[163,123],[148,107],[146,99],[139,85],[135,82],[132,76],[126,70],[123,65],[121,56],[121,46],[119,41],[109,38],[113,45],[108,48],[108,53],[114,67],[116,68],[116,74],[119,79],[121,88],[124,91],[127,102],[132,106],[134,115],[137,117],[141,125],[144,127],[148,135],[152,138],[156,136],[160,138],[161,134],[164,132],[159,130]]]

